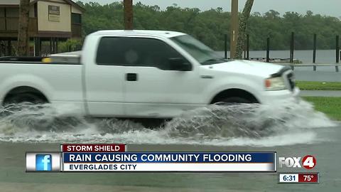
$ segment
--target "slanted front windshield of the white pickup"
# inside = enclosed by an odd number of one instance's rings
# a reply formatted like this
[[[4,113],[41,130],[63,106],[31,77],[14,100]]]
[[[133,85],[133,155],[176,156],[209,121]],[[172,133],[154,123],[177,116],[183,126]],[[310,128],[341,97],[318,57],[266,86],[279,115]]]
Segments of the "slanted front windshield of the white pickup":
[[[171,38],[171,40],[190,53],[190,55],[192,55],[193,58],[201,63],[201,65],[211,65],[215,63],[224,63],[227,61],[214,50],[205,46],[204,43],[197,41],[192,36],[176,36]]]

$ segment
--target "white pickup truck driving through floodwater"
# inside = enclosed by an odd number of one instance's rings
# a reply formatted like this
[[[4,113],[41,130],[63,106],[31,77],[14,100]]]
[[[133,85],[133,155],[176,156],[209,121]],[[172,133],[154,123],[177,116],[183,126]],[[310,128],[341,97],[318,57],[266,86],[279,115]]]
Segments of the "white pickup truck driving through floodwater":
[[[299,92],[288,68],[224,60],[173,31],[98,31],[80,53],[51,60],[0,59],[0,103],[70,104],[94,117],[168,118],[215,102],[283,102]]]

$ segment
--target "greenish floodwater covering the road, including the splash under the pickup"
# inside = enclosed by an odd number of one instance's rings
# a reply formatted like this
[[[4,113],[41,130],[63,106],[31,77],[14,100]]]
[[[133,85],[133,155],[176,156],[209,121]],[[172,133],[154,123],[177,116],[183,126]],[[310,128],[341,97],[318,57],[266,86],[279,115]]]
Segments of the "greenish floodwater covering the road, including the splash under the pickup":
[[[0,191],[338,191],[341,125],[308,102],[212,105],[147,129],[129,120],[92,119],[72,106],[0,108]],[[277,151],[314,155],[319,184],[278,184],[276,174],[25,173],[25,151],[61,143],[126,143],[130,151]],[[306,171],[282,169],[278,171]]]

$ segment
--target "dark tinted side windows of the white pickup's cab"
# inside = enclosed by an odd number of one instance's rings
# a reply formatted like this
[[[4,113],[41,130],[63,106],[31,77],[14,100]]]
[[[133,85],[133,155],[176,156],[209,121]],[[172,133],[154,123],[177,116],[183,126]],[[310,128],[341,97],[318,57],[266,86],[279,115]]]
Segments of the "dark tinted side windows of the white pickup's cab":
[[[153,38],[104,37],[97,50],[97,65],[155,67],[172,70],[170,59],[183,55],[163,41]]]

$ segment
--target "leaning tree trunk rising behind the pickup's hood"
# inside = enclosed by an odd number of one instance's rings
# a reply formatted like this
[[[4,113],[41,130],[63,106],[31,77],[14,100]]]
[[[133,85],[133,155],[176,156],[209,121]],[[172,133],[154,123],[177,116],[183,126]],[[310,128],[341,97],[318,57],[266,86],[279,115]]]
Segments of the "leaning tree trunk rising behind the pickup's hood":
[[[247,21],[250,17],[250,12],[252,5],[254,4],[254,0],[247,0],[244,6],[244,10],[242,16],[239,18],[239,35],[237,40],[237,48],[236,48],[236,55],[234,58],[242,59],[243,50],[245,46],[245,40],[247,36]]]

